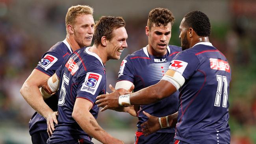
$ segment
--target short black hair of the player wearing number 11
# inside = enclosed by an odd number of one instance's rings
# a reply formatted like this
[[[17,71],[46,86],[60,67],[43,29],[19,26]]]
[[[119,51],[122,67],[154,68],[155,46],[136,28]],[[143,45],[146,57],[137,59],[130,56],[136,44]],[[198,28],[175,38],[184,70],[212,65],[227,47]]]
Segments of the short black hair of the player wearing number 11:
[[[191,11],[185,16],[184,25],[193,28],[198,36],[209,37],[211,33],[210,20],[206,14],[201,11]]]

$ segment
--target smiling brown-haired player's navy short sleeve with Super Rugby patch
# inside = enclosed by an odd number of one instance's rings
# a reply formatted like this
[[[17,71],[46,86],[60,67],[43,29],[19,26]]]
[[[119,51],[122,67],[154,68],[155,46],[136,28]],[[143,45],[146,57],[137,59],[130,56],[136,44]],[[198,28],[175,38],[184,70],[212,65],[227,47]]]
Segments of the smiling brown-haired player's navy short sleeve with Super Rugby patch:
[[[106,75],[102,70],[95,69],[83,73],[78,79],[76,98],[85,98],[95,103],[96,97],[106,88]]]

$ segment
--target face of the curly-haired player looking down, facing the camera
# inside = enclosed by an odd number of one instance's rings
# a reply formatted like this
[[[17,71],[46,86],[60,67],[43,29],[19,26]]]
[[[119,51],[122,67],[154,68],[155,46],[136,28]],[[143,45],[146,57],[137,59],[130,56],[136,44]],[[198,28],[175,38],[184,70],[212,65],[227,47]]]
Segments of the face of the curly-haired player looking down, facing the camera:
[[[150,30],[146,26],[146,34],[148,35],[149,44],[153,48],[153,55],[160,56],[166,54],[166,49],[171,38],[171,30],[172,26],[170,22],[167,26],[156,26],[156,24],[153,24]]]

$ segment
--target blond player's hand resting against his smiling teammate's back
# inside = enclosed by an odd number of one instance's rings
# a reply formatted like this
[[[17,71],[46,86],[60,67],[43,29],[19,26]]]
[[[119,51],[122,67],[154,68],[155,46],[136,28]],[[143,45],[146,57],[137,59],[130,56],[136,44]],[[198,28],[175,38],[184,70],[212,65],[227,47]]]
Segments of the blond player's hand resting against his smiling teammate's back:
[[[46,118],[47,122],[47,133],[50,136],[52,136],[52,133],[54,131],[54,123],[58,124],[57,116],[59,115],[58,111],[54,111],[53,113],[48,114]]]

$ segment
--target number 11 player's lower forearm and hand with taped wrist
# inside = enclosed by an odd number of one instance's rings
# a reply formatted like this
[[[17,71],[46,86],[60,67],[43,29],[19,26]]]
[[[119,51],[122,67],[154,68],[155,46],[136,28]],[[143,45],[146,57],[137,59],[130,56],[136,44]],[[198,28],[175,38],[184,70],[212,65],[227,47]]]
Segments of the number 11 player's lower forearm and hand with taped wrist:
[[[156,117],[152,116],[145,111],[143,113],[148,117],[148,120],[141,124],[142,131],[145,134],[145,136],[150,135],[151,133],[154,133],[158,131],[159,129],[165,128],[165,127],[175,127],[177,123],[178,118],[178,112],[171,114],[169,116],[164,117]]]

